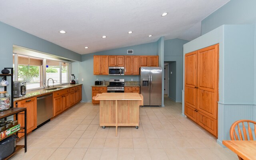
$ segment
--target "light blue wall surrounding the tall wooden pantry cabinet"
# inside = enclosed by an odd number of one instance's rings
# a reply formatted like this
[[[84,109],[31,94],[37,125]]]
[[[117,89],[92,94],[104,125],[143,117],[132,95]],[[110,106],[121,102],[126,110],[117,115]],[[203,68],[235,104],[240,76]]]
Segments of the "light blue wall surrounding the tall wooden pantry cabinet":
[[[254,117],[254,25],[220,26],[184,44],[184,54],[217,43],[220,44],[217,142],[222,145],[222,140],[230,139],[233,122]]]

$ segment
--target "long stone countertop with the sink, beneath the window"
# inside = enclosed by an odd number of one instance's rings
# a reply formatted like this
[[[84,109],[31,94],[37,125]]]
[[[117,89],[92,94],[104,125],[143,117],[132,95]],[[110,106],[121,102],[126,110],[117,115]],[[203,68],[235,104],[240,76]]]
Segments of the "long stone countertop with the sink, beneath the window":
[[[31,98],[31,97],[35,97],[35,96],[48,94],[48,93],[53,93],[53,92],[56,92],[56,91],[59,91],[59,90],[64,90],[64,89],[71,88],[71,87],[74,87],[74,86],[79,86],[79,85],[82,85],[82,84],[64,84],[64,85],[61,85],[61,86],[55,86],[55,87],[64,87],[64,88],[60,88],[60,89],[56,89],[56,90],[45,90],[47,88],[39,89],[39,90],[32,90],[32,91],[26,92],[26,95],[24,95],[24,96],[13,98],[13,101],[18,101],[18,100],[23,100],[23,99],[26,99],[26,98]]]

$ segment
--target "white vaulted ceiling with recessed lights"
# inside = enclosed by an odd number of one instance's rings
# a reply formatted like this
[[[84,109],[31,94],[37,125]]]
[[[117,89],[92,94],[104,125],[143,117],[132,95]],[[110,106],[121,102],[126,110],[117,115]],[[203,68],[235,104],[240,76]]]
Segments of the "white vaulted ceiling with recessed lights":
[[[193,40],[200,36],[201,20],[228,1],[1,0],[0,21],[88,54],[156,42],[161,36]],[[161,16],[164,12],[167,16]]]

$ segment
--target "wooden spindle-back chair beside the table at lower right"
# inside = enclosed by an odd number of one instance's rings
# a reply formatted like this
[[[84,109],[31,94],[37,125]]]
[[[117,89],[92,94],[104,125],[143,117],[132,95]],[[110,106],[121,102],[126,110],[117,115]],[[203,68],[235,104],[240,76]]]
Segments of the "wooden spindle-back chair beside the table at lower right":
[[[240,129],[242,123],[242,131]],[[246,125],[247,124],[247,129],[246,129]],[[239,125],[240,124],[240,125]],[[237,131],[236,132],[236,126],[237,126]],[[254,126],[254,130],[252,130],[251,126]],[[248,140],[248,135],[249,135],[249,140],[255,140],[253,137],[253,132],[254,132],[254,136],[256,138],[256,122],[252,121],[252,120],[238,120],[236,122],[234,122],[232,124],[232,126],[230,127],[230,139],[231,140]],[[239,157],[239,160],[243,160],[241,157]]]

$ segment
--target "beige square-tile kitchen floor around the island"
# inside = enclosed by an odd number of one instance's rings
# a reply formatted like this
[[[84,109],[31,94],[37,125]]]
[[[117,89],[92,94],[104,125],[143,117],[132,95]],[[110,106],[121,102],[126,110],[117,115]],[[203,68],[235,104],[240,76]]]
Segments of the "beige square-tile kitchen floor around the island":
[[[236,160],[200,126],[181,116],[169,98],[164,108],[140,108],[140,126],[99,126],[99,106],[80,103],[28,135],[12,160]],[[24,144],[24,140],[18,142]]]

